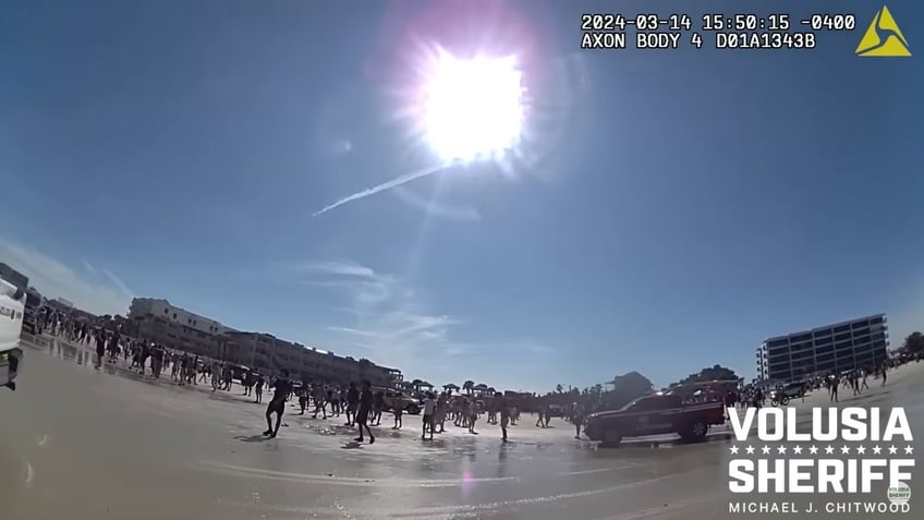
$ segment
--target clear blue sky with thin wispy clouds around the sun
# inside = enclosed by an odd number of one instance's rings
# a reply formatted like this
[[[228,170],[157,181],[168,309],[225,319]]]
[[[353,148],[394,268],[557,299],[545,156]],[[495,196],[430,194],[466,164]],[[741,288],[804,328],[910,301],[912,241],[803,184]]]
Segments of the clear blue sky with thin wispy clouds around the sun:
[[[4,2],[0,256],[439,384],[751,377],[769,336],[924,326],[924,69],[854,57],[880,4],[813,51],[666,52],[580,50],[613,2],[494,3]],[[889,2],[912,52],[920,3]],[[522,56],[523,156],[312,217],[431,164],[396,117],[415,41]]]

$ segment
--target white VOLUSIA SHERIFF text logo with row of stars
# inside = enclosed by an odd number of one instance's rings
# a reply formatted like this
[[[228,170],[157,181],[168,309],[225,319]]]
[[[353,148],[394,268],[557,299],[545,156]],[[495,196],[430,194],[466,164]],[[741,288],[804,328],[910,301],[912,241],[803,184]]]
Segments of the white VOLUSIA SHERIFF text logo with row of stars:
[[[911,510],[914,437],[903,408],[728,413],[734,432],[728,447],[729,512]]]

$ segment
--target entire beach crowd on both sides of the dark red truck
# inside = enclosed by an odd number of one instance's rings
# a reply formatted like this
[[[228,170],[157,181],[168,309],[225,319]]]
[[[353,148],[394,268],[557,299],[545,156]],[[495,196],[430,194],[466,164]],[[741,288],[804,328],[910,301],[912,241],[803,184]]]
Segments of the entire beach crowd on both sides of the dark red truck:
[[[458,428],[464,428],[467,433],[477,435],[478,420],[486,415],[487,424],[500,426],[503,440],[508,439],[509,426],[515,426],[521,414],[521,402],[501,392],[472,396],[453,395],[451,390],[447,390],[438,394],[428,391],[418,392],[416,396],[405,396],[397,390],[374,388],[368,380],[363,380],[358,385],[355,382],[345,385],[309,380],[296,383],[290,378],[285,370],[280,371],[276,377],[267,377],[246,370],[238,370],[235,373],[235,367],[227,363],[170,349],[156,342],[127,338],[120,335],[118,330],[94,327],[51,307],[44,307],[39,312],[37,325],[39,334],[44,330],[52,336],[65,338],[71,343],[95,347],[97,370],[100,370],[106,362],[117,363],[121,359],[130,371],[144,377],[160,379],[165,371],[169,370],[170,380],[179,386],[210,384],[214,392],[231,391],[236,378],[243,387],[242,396],[252,397],[256,403],[263,402],[264,388],[272,388],[273,395],[266,409],[267,430],[264,432],[269,437],[275,437],[279,433],[285,403],[290,400],[297,400],[300,413],[311,413],[313,419],[318,419],[318,415],[321,420],[339,419],[345,415],[344,425],[358,430],[356,442],[368,438],[369,444],[375,443],[369,426],[380,426],[382,413],[386,411],[392,413],[393,430],[403,427],[405,413],[421,413],[422,438],[427,436],[433,438],[435,434],[445,433],[447,421]],[[916,359],[920,361],[921,358]],[[903,362],[907,361],[910,360]],[[870,388],[870,376],[882,379],[882,385],[885,385],[888,371],[896,364],[897,361],[887,360],[876,366],[862,370],[806,378],[799,384],[801,387],[794,392],[794,397],[801,396],[804,400],[805,394],[822,387],[827,389],[832,402],[838,401],[839,389],[850,388],[853,395],[858,396]],[[691,395],[689,400],[722,400],[727,407],[761,408],[767,404],[768,399],[774,401],[775,406],[781,403],[778,397],[771,397],[775,392],[780,395],[785,392],[785,388],[782,386],[765,388],[758,385],[731,388],[720,385],[718,388],[701,389]],[[579,439],[581,425],[586,415],[600,409],[600,402],[588,400],[587,396],[580,396],[567,406],[552,403],[549,400],[537,402],[534,400],[530,404],[531,411],[537,415],[536,427],[550,427],[552,416],[557,415],[575,427],[575,438]]]

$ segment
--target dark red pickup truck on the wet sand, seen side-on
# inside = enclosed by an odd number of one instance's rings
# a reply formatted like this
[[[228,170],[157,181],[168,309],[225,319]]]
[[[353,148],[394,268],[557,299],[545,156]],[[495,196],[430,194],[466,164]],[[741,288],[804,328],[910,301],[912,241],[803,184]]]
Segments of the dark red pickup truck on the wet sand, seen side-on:
[[[592,413],[584,433],[592,440],[619,446],[625,437],[676,433],[686,442],[702,440],[709,426],[725,423],[721,401],[684,403],[677,395],[653,394],[619,410]]]

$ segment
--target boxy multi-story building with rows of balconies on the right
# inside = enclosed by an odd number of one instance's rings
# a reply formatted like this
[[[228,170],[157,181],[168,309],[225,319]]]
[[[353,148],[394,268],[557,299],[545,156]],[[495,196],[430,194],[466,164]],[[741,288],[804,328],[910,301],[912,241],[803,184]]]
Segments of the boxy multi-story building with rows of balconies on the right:
[[[875,366],[888,358],[888,337],[886,315],[875,314],[769,338],[757,349],[757,377],[798,380]]]

